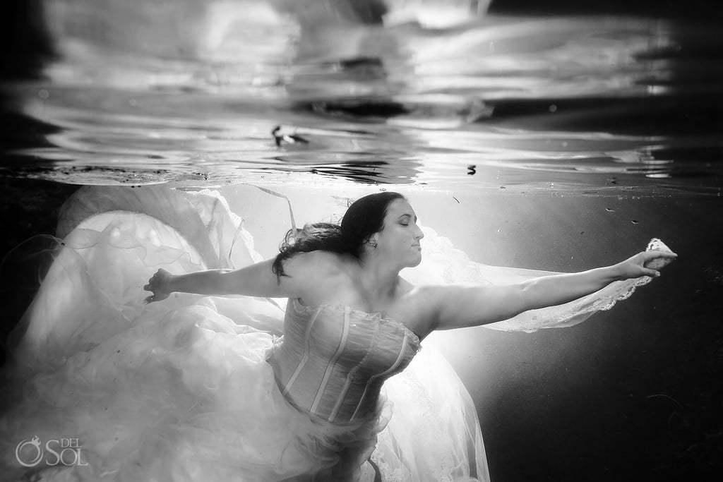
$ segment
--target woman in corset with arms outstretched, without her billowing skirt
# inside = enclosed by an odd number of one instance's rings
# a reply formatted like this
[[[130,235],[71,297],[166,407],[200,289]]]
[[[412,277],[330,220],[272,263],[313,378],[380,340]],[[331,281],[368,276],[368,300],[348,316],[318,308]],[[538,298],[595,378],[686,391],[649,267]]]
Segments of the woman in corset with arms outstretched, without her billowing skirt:
[[[381,383],[404,369],[430,332],[498,322],[581,298],[616,280],[659,276],[645,264],[675,257],[646,251],[614,266],[512,285],[415,287],[399,272],[422,259],[424,233],[416,220],[401,194],[370,194],[348,208],[341,225],[289,233],[291,244],[275,259],[231,272],[173,276],[159,270],[145,286],[153,291],[147,301],[174,291],[289,298],[285,340],[269,358],[278,386],[304,413],[350,423],[374,419]],[[372,314],[397,323],[371,328],[366,318]],[[388,337],[384,343],[377,340],[382,335]],[[372,437],[368,445],[343,449],[343,463],[330,480],[358,480],[374,448]]]

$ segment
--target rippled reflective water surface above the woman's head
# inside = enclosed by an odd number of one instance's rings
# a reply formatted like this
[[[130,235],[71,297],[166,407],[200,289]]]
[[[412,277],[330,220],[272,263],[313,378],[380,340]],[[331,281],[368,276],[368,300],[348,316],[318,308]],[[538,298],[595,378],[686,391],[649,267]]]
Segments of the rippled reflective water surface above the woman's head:
[[[173,38],[149,46],[161,35],[151,25],[110,38],[64,25],[41,78],[5,86],[20,146],[3,173],[719,193],[716,25],[489,15],[309,38],[288,17],[259,15],[245,29],[217,20],[206,27],[213,42],[189,35],[185,48]],[[275,126],[308,143],[277,146]]]

